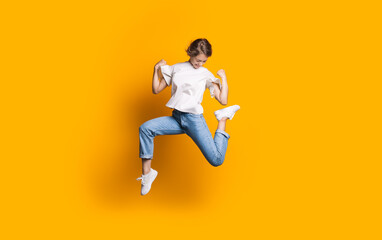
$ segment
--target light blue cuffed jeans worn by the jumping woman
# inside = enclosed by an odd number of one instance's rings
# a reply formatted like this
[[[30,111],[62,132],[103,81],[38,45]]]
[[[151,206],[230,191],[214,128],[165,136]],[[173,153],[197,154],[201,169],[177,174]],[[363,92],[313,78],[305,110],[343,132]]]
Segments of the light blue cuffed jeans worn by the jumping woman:
[[[228,133],[217,129],[212,138],[203,114],[185,113],[176,109],[171,117],[154,118],[139,127],[139,157],[153,158],[155,136],[183,133],[191,137],[212,166],[217,167],[223,163],[230,138]]]

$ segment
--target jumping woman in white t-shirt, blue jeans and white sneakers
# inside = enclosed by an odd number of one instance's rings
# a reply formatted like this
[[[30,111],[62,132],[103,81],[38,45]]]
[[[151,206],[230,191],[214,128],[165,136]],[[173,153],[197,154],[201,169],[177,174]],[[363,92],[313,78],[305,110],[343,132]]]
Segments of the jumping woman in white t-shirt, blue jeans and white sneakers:
[[[227,119],[232,119],[240,109],[238,105],[220,109],[215,112],[219,121],[215,137],[207,127],[203,117],[201,102],[206,88],[211,97],[226,105],[228,102],[227,78],[223,69],[217,72],[222,82],[207,68],[203,67],[208,57],[212,55],[211,44],[201,38],[193,41],[186,50],[190,59],[186,62],[166,65],[163,59],[154,67],[152,90],[160,93],[172,85],[171,99],[166,104],[174,109],[172,116],[149,120],[139,128],[139,151],[142,158],[141,195],[146,195],[151,188],[158,172],[151,168],[154,153],[154,137],[158,135],[174,135],[186,133],[199,147],[204,157],[212,166],[220,166],[225,157],[228,139],[225,132]]]

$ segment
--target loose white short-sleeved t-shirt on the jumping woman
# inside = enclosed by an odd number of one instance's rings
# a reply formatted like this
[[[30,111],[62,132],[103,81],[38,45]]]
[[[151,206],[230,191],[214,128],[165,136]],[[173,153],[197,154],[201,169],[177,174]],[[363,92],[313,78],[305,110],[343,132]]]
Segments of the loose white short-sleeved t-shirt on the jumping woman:
[[[172,85],[171,98],[166,106],[182,112],[202,114],[201,103],[204,91],[208,88],[211,98],[213,98],[214,86],[212,83],[219,84],[219,88],[221,88],[219,78],[216,78],[207,68],[195,69],[188,61],[172,66],[161,66],[161,71],[167,85]]]

